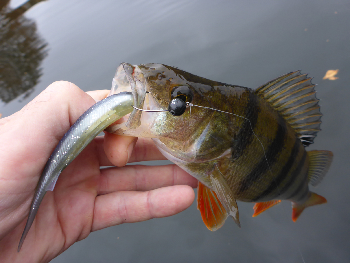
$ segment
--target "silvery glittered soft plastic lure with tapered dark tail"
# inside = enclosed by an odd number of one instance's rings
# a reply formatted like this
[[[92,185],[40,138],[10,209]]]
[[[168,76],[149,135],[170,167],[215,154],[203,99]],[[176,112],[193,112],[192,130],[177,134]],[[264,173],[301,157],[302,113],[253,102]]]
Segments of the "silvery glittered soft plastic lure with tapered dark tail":
[[[39,205],[48,190],[54,190],[58,176],[75,157],[107,126],[130,113],[134,99],[131,92],[113,94],[97,102],[79,117],[59,141],[47,161],[36,187],[26,227],[18,251],[33,224]]]

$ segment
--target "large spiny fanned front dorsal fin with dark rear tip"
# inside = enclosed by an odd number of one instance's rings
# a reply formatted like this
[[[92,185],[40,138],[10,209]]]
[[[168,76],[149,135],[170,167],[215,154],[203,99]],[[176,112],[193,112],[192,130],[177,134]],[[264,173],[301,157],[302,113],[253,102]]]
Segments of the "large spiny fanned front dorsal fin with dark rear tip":
[[[304,146],[320,131],[321,112],[315,85],[300,70],[284,74],[255,89],[295,129]]]

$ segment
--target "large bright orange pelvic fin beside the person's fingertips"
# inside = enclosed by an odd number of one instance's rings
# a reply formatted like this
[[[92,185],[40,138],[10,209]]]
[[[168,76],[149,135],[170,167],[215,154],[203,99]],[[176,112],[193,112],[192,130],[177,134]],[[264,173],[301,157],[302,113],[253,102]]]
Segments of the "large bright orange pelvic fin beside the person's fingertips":
[[[203,222],[211,231],[221,228],[228,217],[215,192],[199,181],[197,187],[197,209],[201,211]]]

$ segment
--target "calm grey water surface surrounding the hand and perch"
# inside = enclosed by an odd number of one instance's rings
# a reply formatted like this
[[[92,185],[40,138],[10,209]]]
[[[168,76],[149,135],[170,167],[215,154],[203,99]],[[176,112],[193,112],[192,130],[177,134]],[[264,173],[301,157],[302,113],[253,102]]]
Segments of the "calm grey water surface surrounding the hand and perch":
[[[227,220],[211,232],[194,203],[175,216],[93,232],[52,262],[295,263],[301,254],[306,263],[350,262],[349,0],[48,0],[25,17],[35,21],[48,55],[29,94],[0,102],[3,117],[56,80],[110,89],[123,61],[163,63],[251,88],[302,69],[318,84],[324,114],[308,150],[334,153],[315,189],[328,203],[306,209],[296,223],[290,202],[254,218],[253,204],[238,202],[241,228]],[[339,79],[322,80],[329,69],[339,69]]]

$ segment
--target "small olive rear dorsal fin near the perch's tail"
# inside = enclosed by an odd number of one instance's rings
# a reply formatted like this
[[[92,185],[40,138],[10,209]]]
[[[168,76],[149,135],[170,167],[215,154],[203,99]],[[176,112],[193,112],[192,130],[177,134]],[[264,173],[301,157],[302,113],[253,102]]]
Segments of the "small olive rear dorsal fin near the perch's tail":
[[[311,186],[317,186],[327,173],[333,160],[331,151],[308,151],[309,155],[309,171],[308,181]]]

